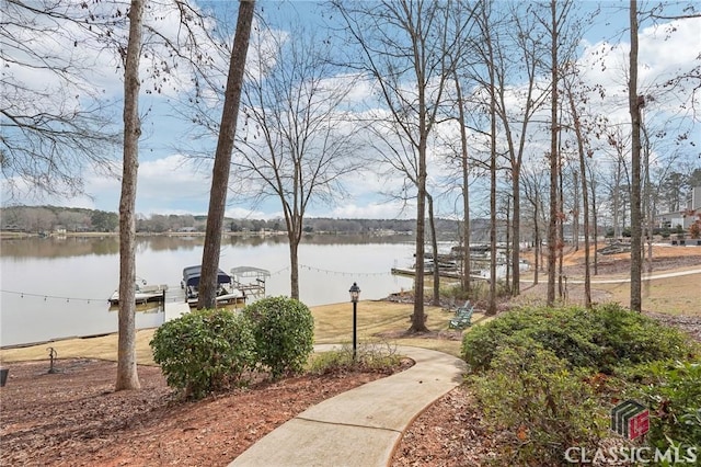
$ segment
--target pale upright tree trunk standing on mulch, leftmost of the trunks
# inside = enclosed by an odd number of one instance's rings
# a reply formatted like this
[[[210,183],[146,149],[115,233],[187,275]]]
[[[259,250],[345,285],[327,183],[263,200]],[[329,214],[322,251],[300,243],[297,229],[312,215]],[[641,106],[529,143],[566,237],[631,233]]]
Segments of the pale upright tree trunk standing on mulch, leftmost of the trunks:
[[[124,167],[119,200],[119,324],[115,390],[139,389],[136,365],[136,187],[139,168],[139,58],[143,2],[131,0],[124,66]]]

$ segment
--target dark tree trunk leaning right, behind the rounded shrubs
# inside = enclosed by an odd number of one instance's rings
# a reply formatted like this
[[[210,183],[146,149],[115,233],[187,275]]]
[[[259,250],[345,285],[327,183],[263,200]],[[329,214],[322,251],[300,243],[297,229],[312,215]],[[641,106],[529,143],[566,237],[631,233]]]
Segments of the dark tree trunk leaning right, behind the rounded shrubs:
[[[231,168],[231,151],[237,132],[237,118],[241,102],[241,87],[245,57],[249,50],[251,24],[255,10],[254,0],[239,2],[239,18],[237,32],[229,61],[229,76],[225,91],[223,110],[219,139],[215,153],[215,166],[211,172],[211,191],[209,193],[209,212],[205,231],[205,246],[202,253],[202,276],[199,278],[199,299],[197,308],[214,308],[217,296],[217,276],[219,272],[219,250],[221,249],[221,232],[223,215],[227,206],[227,191],[229,190],[229,170]]]

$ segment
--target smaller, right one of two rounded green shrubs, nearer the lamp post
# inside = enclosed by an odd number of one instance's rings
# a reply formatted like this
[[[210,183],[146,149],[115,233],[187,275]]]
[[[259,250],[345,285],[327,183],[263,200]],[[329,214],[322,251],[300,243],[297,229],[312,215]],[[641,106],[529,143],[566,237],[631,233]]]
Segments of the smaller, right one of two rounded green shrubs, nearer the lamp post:
[[[300,373],[313,351],[314,318],[299,300],[269,297],[243,309],[253,326],[258,362],[274,378]]]

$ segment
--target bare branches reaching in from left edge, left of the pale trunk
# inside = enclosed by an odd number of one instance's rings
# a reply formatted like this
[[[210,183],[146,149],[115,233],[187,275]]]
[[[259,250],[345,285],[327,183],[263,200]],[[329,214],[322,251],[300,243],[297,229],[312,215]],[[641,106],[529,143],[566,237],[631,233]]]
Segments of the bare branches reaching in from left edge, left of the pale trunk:
[[[110,7],[4,0],[0,15],[3,196],[72,196],[85,169],[110,171],[116,106],[95,86],[101,37],[124,21]]]

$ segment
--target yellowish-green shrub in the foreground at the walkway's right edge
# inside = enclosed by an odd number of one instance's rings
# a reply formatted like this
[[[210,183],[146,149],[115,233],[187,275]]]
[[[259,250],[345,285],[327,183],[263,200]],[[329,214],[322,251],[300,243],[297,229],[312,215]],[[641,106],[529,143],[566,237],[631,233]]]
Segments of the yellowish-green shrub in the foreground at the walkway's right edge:
[[[596,449],[608,413],[583,369],[535,341],[501,349],[491,368],[470,381],[486,424],[505,433],[499,465],[561,465],[570,446]]]

